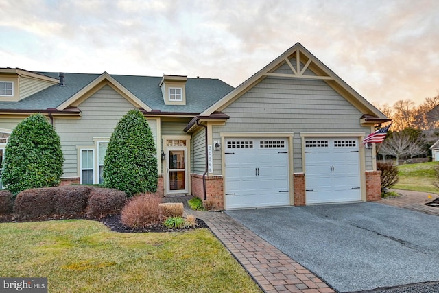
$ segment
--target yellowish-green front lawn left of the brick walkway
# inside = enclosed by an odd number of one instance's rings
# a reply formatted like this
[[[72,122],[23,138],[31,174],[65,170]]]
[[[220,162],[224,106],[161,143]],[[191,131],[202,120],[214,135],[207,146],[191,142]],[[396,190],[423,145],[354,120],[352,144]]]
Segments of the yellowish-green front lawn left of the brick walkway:
[[[100,222],[0,224],[0,276],[49,292],[261,292],[208,229],[116,233]]]

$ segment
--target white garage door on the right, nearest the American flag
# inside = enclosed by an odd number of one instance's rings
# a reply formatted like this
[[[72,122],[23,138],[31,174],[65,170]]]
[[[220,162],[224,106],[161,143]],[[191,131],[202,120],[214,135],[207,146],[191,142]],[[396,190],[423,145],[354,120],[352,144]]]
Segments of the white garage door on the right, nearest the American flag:
[[[358,139],[305,139],[305,185],[307,204],[361,200]]]

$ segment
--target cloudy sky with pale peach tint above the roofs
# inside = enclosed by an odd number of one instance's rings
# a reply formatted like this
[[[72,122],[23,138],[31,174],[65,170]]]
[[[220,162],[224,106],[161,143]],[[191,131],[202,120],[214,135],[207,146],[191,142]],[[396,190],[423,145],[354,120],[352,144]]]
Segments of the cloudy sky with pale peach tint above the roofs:
[[[0,67],[244,82],[302,43],[374,104],[439,94],[437,0],[0,0]]]

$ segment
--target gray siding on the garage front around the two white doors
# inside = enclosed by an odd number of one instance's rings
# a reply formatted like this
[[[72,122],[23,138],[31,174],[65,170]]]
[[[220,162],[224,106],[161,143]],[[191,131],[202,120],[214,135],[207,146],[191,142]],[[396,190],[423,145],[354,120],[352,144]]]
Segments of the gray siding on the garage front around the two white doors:
[[[276,72],[292,73],[287,65]],[[268,77],[223,112],[230,119],[213,127],[213,139],[219,132],[294,132],[294,172],[303,172],[300,132],[370,132],[359,124],[362,113],[322,80]],[[215,174],[221,174],[219,155],[213,163]],[[372,169],[370,150],[366,169]]]

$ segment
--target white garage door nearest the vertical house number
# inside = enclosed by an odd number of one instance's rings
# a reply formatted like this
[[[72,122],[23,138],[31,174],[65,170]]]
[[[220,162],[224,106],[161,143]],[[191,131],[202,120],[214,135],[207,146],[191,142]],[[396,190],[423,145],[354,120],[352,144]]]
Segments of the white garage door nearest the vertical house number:
[[[226,138],[226,209],[289,204],[285,138]]]

